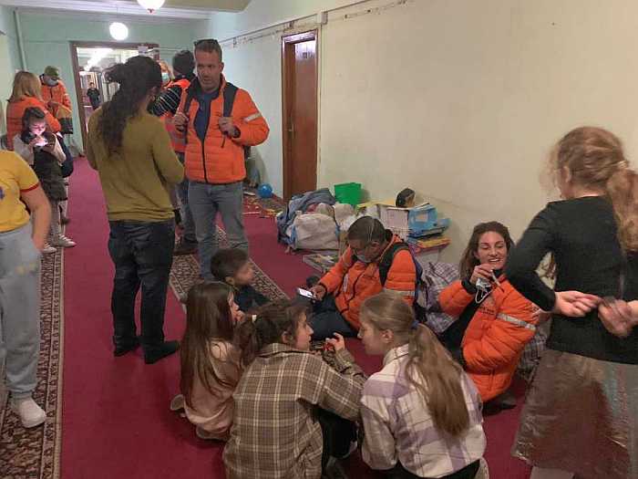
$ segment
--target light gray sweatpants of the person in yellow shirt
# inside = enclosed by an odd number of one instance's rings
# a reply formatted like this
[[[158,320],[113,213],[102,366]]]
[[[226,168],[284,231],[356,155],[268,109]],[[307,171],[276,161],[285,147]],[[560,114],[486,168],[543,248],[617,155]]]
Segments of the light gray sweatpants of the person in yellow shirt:
[[[36,389],[40,352],[40,252],[31,224],[0,233],[0,362],[16,399]]]

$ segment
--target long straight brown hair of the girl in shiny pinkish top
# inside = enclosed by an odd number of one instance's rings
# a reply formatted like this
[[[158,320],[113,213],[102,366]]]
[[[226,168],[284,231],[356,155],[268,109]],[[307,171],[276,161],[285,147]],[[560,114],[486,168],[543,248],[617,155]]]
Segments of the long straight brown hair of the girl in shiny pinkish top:
[[[180,390],[189,406],[192,406],[192,390],[196,379],[211,394],[216,394],[211,380],[222,386],[229,385],[215,373],[211,360],[211,340],[232,342],[232,313],[228,302],[231,293],[230,286],[219,282],[190,288],[186,300],[186,331],[180,348]]]

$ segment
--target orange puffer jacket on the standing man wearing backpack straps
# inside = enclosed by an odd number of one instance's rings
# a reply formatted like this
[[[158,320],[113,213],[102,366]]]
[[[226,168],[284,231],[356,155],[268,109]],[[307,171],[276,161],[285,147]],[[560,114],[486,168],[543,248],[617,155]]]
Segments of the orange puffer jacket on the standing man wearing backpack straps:
[[[246,177],[243,147],[254,146],[266,141],[269,128],[251,96],[246,90],[238,89],[232,105],[232,120],[241,131],[238,138],[229,138],[221,133],[219,120],[223,115],[223,90],[226,79],[221,76],[220,95],[211,101],[211,120],[206,138],[201,142],[195,131],[195,116],[199,107],[200,82],[195,78],[189,89],[181,94],[180,111],[184,110],[186,99],[192,96],[189,111],[189,127],[186,137],[186,176],[193,182],[231,183],[241,182]]]

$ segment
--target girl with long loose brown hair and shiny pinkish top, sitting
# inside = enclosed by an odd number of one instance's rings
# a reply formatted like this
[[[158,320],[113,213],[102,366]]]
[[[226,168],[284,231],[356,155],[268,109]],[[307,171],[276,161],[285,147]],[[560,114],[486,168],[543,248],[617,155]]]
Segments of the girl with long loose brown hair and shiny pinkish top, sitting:
[[[240,379],[240,355],[232,345],[243,314],[223,283],[192,286],[181,340],[180,390],[171,411],[186,412],[201,439],[226,441],[232,424],[232,392]]]

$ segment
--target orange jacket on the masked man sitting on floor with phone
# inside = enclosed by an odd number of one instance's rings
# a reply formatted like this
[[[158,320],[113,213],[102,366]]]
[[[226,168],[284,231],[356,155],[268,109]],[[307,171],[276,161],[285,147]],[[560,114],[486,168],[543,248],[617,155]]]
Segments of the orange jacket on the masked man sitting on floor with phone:
[[[388,234],[390,245],[401,241],[396,234]],[[384,251],[384,253],[387,251]],[[417,270],[409,251],[396,252],[392,266],[387,272],[386,285],[381,286],[378,263],[362,263],[356,261],[353,265],[353,252],[350,247],[333,268],[328,271],[321,281],[328,293],[334,294],[334,304],[350,325],[359,329],[359,309],[368,297],[373,297],[384,289],[403,294],[406,302],[412,305],[415,299]],[[377,259],[380,260],[383,254]]]

